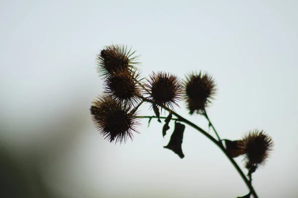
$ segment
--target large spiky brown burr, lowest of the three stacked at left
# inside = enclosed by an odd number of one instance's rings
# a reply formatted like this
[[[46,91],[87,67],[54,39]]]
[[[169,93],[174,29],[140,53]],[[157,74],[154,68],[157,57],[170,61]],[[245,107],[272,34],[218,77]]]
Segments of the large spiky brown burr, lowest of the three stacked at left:
[[[127,141],[128,137],[133,140],[133,132],[138,123],[137,112],[131,110],[131,106],[123,105],[111,97],[98,96],[90,108],[92,121],[95,128],[105,139],[115,143]]]

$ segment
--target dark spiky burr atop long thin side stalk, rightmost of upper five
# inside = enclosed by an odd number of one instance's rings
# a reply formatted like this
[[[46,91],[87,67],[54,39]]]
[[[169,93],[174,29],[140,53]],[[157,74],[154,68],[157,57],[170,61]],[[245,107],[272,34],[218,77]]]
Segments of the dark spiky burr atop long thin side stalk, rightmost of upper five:
[[[215,80],[207,73],[199,74],[192,72],[186,75],[184,81],[185,100],[189,114],[194,112],[203,113],[205,108],[211,104],[217,91]]]

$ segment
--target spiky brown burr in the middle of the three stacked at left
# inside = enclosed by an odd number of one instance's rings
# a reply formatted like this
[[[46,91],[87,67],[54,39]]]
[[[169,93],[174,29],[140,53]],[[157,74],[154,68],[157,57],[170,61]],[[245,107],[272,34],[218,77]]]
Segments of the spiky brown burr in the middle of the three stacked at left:
[[[119,103],[132,105],[140,102],[143,95],[142,82],[137,70],[118,70],[104,81],[104,93]]]

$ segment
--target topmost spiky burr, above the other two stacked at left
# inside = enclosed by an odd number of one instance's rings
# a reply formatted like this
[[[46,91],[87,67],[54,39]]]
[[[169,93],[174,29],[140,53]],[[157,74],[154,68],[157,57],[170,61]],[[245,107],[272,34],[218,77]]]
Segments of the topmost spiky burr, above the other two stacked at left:
[[[104,79],[107,75],[113,75],[117,70],[130,70],[135,68],[139,56],[134,56],[136,51],[132,52],[124,45],[105,46],[99,54],[96,55],[96,70],[99,76]]]

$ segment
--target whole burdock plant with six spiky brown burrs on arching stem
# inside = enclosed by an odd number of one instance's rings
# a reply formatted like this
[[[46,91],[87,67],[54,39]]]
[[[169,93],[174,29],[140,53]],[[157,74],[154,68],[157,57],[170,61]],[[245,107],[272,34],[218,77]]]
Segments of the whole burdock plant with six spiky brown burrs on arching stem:
[[[213,141],[230,160],[247,185],[249,192],[239,198],[258,198],[252,186],[252,174],[259,166],[265,165],[273,150],[272,138],[263,130],[251,130],[242,139],[222,139],[211,123],[206,109],[211,106],[217,94],[215,79],[207,72],[191,72],[181,80],[173,73],[165,71],[152,72],[149,77],[141,78],[137,68],[139,56],[135,51],[124,45],[104,47],[96,56],[96,69],[104,79],[104,91],[92,102],[90,113],[95,128],[110,142],[126,142],[133,140],[140,119],[164,119],[162,135],[170,129],[169,123],[175,122],[174,131],[169,143],[164,148],[172,150],[181,159],[183,134],[185,125],[201,132]],[[186,120],[175,112],[174,107],[184,100],[190,115],[198,114],[207,119],[209,128],[215,136],[204,131],[199,126]],[[143,103],[149,103],[154,116],[138,116],[138,108]],[[168,112],[167,117],[160,117],[160,111]],[[182,124],[184,123],[184,124]],[[224,142],[224,143],[223,143]],[[233,158],[243,156],[245,175]]]

